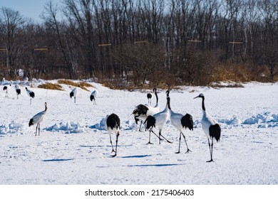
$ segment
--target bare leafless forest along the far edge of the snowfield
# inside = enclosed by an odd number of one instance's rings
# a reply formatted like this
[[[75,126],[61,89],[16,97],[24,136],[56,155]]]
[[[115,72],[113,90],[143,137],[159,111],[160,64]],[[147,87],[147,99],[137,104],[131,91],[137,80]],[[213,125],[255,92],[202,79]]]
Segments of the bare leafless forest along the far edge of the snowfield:
[[[278,80],[277,0],[48,1],[0,10],[0,78],[118,87]]]

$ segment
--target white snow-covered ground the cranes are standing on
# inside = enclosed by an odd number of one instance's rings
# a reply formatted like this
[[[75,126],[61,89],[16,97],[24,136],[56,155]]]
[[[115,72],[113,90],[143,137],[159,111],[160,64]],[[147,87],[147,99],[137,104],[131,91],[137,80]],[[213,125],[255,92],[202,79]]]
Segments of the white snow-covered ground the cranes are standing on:
[[[181,153],[175,154],[179,132],[170,121],[162,134],[173,143],[158,144],[152,134],[153,144],[147,144],[148,131],[138,131],[131,114],[136,105],[148,104],[147,93],[151,90],[110,90],[91,82],[89,91],[78,88],[74,104],[69,97],[73,87],[63,85],[63,91],[38,88],[43,82],[47,81],[11,82],[21,87],[19,99],[15,90],[5,97],[2,87],[10,82],[1,82],[2,185],[278,184],[278,83],[171,90],[173,111],[189,113],[194,120],[193,131],[183,130],[192,152],[185,154],[182,140]],[[25,87],[35,92],[32,104]],[[93,90],[98,90],[97,104],[90,100]],[[210,151],[200,124],[202,99],[193,99],[201,92],[207,112],[222,129],[220,141],[214,143],[212,163],[206,162]],[[158,97],[163,110],[165,90],[158,90]],[[29,127],[29,119],[43,111],[44,102],[48,112],[41,122],[41,135],[35,136],[36,125]],[[111,157],[104,125],[112,113],[118,114],[121,124],[115,157]],[[112,139],[115,144],[115,135]]]

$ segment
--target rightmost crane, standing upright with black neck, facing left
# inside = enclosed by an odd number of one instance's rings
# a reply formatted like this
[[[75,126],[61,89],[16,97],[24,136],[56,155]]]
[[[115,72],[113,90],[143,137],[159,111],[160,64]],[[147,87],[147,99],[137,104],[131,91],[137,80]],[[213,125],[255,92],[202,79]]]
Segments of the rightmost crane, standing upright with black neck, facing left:
[[[213,148],[213,139],[216,139],[216,141],[220,140],[221,136],[221,128],[220,125],[217,124],[216,120],[213,119],[210,114],[207,114],[205,111],[205,96],[201,93],[197,97],[202,98],[202,130],[205,132],[205,135],[207,136],[207,141],[209,144],[210,148],[210,161],[207,162],[212,162],[212,148]],[[195,97],[195,98],[197,98]],[[195,99],[194,98],[194,99]],[[210,144],[211,140],[211,144]]]

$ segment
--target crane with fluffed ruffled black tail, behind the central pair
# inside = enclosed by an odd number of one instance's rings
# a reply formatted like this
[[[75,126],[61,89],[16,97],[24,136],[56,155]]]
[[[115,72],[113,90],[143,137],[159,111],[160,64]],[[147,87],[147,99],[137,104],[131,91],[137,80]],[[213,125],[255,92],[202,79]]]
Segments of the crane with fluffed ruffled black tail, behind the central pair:
[[[150,106],[150,104],[139,104],[135,109],[133,110],[134,119],[136,124],[138,124],[138,121],[141,121],[139,131],[141,131],[142,123],[147,119],[149,115],[153,115],[159,112],[159,103],[158,103],[158,93],[157,89],[154,88],[153,92],[155,92],[156,97],[156,104],[155,107]]]

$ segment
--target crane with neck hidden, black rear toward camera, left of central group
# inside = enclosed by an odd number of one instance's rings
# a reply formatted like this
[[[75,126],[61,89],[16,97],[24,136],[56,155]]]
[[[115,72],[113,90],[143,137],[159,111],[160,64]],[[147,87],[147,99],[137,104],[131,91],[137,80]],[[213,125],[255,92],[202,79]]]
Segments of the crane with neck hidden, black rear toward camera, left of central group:
[[[115,152],[113,157],[117,156],[117,146],[118,146],[118,136],[120,135],[120,118],[116,114],[110,114],[105,122],[105,129],[108,131],[109,136],[110,136],[110,144],[112,146],[112,151]],[[115,133],[116,135],[116,142],[115,142],[115,150],[113,148],[112,144],[112,139],[111,139],[111,134]]]

